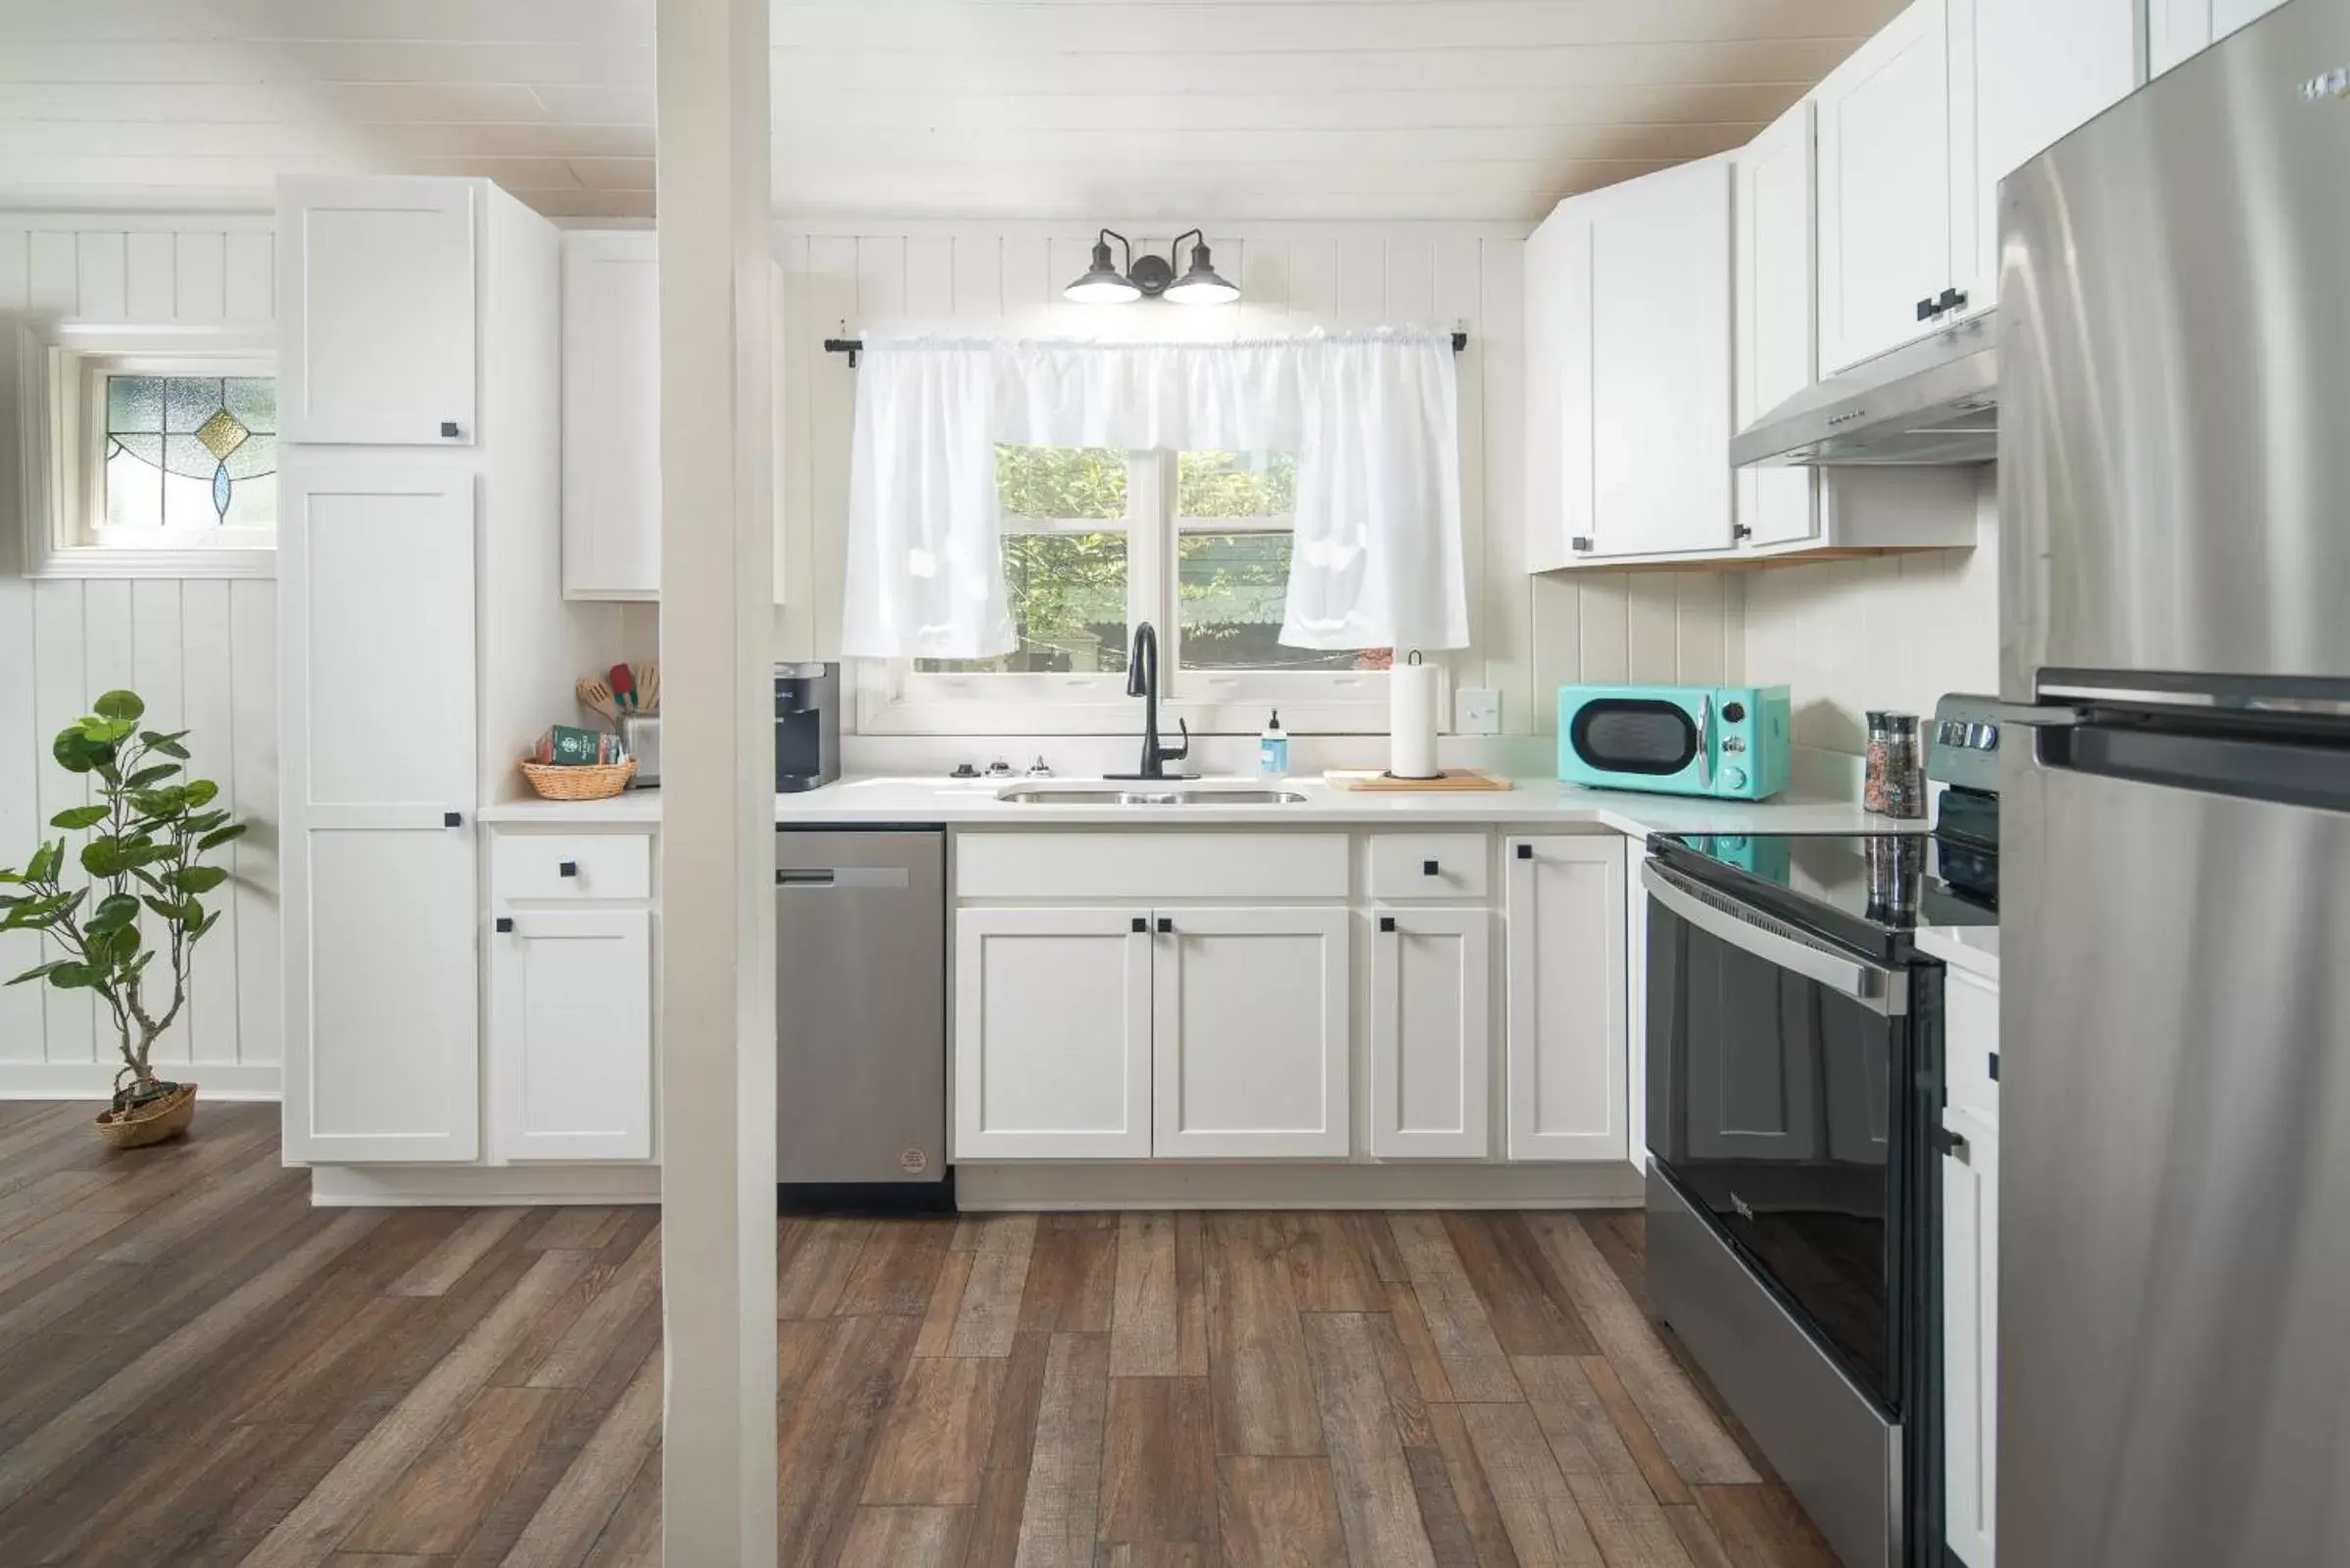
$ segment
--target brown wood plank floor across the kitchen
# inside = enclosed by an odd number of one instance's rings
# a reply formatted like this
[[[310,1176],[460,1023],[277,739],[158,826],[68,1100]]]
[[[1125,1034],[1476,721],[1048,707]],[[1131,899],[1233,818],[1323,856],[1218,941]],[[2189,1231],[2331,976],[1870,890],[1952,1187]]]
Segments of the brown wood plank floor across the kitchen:
[[[783,1220],[792,1568],[1833,1568],[1638,1215]],[[0,1563],[660,1559],[653,1208],[315,1211],[0,1105]]]

